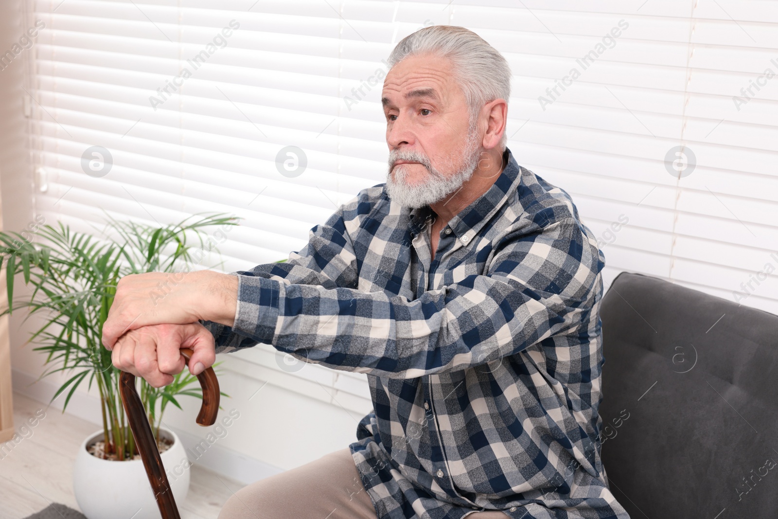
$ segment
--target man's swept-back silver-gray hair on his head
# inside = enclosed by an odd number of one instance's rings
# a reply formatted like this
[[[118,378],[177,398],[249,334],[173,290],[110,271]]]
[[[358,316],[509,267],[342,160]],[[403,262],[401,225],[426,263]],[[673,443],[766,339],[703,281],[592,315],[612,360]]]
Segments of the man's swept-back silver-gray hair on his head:
[[[494,47],[478,34],[464,27],[433,25],[417,30],[394,47],[387,65],[394,65],[408,56],[437,54],[451,61],[454,78],[464,92],[470,109],[470,124],[475,124],[478,111],[489,101],[510,98],[510,66]],[[506,132],[499,141],[505,149]]]

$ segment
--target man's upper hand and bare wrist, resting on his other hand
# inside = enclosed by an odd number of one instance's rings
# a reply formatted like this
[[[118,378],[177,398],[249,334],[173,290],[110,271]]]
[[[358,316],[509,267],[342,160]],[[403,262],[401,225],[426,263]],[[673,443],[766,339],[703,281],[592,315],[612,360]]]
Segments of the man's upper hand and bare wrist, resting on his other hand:
[[[150,324],[203,319],[232,326],[237,288],[237,276],[210,270],[125,275],[103,324],[103,345],[113,349],[121,335]]]

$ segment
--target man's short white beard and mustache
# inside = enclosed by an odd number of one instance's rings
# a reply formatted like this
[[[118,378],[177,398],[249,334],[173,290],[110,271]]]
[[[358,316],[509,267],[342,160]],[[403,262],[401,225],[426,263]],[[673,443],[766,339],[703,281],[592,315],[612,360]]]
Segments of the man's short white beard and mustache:
[[[411,150],[393,149],[389,153],[389,170],[387,172],[387,194],[392,201],[409,207],[419,209],[426,205],[440,202],[443,198],[461,188],[464,182],[472,177],[478,167],[478,157],[480,156],[481,146],[480,135],[477,127],[472,124],[468,129],[468,139],[464,144],[464,150],[461,154],[459,163],[461,166],[457,170],[454,161],[449,158],[445,164],[444,171],[447,173],[454,171],[454,174],[447,176],[437,170],[429,162],[429,157],[422,153]],[[394,179],[392,178],[392,164],[398,160],[412,160],[426,167],[429,175],[423,184],[410,185],[407,183],[408,168],[415,164],[400,164],[394,167]]]

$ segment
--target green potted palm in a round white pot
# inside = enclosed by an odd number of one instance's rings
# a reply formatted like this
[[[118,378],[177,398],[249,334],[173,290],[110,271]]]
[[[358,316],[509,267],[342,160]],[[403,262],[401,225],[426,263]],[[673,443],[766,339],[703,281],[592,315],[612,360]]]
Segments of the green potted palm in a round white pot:
[[[217,241],[205,229],[218,226],[216,235],[221,241],[229,226],[237,225],[237,218],[195,215],[172,225],[148,226],[107,216],[101,237],[72,232],[62,223],[50,226],[41,219],[39,216],[22,233],[0,232],[0,261],[6,267],[9,301],[0,316],[23,308],[30,310],[25,320],[33,314],[44,314],[43,324],[28,342],[40,344],[34,350],[47,355],[45,365],[49,367],[39,380],[58,371],[75,372],[51,398],[53,402],[68,391],[63,412],[75,389],[87,378],[89,389],[96,384],[100,393],[103,427],[82,442],[73,475],[75,497],[82,512],[89,519],[129,517],[134,513],[134,519],[159,517],[124,416],[118,386],[121,371],[113,366],[111,353],[101,342],[103,323],[122,276],[197,268],[207,252],[218,252]],[[33,235],[41,240],[33,241]],[[193,247],[193,243],[199,246]],[[14,278],[18,274],[32,290],[14,300]],[[180,409],[178,395],[202,398],[196,381],[197,377],[184,370],[165,387],[152,387],[143,379],[140,382],[138,395],[168,471],[186,460],[186,452],[177,435],[163,426],[163,413],[170,403]],[[174,476],[169,473],[169,479],[173,496],[183,502],[189,472]]]

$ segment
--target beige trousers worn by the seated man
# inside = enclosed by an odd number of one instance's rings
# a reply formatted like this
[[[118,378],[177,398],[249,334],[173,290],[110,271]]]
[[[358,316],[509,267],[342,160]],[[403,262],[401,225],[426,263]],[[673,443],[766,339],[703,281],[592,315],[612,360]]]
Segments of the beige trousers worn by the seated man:
[[[244,486],[219,519],[377,519],[349,447]],[[499,510],[468,518],[506,519]]]

